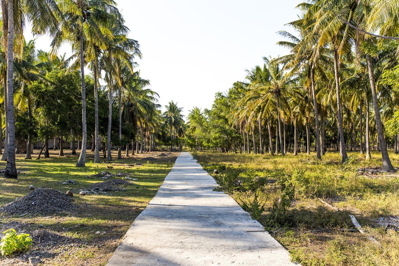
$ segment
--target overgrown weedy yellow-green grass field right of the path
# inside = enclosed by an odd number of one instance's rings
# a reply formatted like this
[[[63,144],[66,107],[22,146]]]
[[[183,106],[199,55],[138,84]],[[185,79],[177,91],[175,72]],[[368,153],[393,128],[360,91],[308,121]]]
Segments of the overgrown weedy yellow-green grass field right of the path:
[[[221,189],[265,225],[292,260],[304,266],[399,265],[399,234],[380,226],[399,215],[399,174],[358,172],[381,166],[377,152],[369,161],[358,153],[349,156],[349,162],[341,165],[336,152],[328,152],[322,162],[315,160],[315,154],[194,152]],[[398,166],[399,156],[390,157]],[[214,169],[219,173],[214,174]],[[349,215],[358,219],[366,235],[353,230]]]

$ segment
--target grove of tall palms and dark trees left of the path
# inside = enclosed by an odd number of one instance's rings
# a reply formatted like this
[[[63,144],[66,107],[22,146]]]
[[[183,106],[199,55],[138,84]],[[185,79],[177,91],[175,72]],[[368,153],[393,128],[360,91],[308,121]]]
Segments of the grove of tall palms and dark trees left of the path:
[[[172,145],[182,135],[181,109],[170,102],[161,113],[158,94],[140,77],[135,62],[141,57],[139,44],[128,38],[113,0],[2,0],[1,6],[5,177],[17,177],[15,154],[22,140],[25,159],[32,158],[36,141],[44,142],[37,159],[43,151],[49,156],[52,138],[60,156],[68,141],[72,154],[81,150],[76,166],[85,166],[87,146],[93,162],[100,163],[101,147],[102,156],[112,160],[115,147],[122,158],[122,148],[129,156],[130,147],[132,153],[144,152],[154,149],[156,141]],[[49,51],[24,39],[26,22],[34,34],[51,36]],[[71,57],[58,54],[63,43],[71,45]]]

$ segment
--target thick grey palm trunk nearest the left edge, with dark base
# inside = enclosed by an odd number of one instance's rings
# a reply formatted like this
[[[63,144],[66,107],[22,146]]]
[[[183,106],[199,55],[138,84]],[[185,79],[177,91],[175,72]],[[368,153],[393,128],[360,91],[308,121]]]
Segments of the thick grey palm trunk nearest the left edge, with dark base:
[[[15,164],[15,116],[14,116],[14,1],[8,1],[8,43],[7,43],[7,165],[4,177],[17,178]]]

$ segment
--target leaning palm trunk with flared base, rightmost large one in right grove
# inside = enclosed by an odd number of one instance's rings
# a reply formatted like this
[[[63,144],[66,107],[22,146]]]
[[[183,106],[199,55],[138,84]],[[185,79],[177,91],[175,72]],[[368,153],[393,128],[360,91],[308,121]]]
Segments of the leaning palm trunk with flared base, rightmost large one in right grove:
[[[366,60],[367,60],[367,66],[368,66],[368,70],[369,70],[371,96],[373,98],[375,124],[377,124],[378,140],[379,140],[379,144],[381,146],[382,169],[384,169],[386,171],[393,171],[393,166],[391,164],[391,160],[389,160],[387,143],[385,142],[384,129],[382,126],[381,116],[380,116],[380,112],[379,112],[377,92],[375,91],[373,65],[371,63],[370,55],[366,54]]]

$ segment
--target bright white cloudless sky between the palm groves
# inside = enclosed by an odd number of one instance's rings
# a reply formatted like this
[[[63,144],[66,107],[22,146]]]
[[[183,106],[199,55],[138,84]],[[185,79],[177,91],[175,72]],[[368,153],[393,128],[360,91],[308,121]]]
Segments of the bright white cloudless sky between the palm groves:
[[[210,108],[218,91],[243,80],[245,69],[263,64],[262,57],[283,55],[276,45],[279,30],[297,19],[300,0],[116,0],[129,37],[139,41],[140,73],[159,93],[184,108]],[[26,39],[32,38],[26,31]],[[50,39],[36,40],[49,50]],[[61,53],[71,54],[68,45]]]

